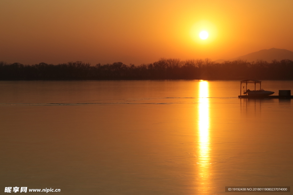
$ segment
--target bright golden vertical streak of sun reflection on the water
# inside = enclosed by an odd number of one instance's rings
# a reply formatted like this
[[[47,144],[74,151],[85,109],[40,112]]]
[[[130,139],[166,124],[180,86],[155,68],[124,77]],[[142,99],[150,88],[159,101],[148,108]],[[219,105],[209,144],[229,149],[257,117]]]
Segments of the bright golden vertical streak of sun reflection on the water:
[[[207,190],[209,175],[209,83],[199,82],[199,106],[198,106],[198,173],[200,190]]]

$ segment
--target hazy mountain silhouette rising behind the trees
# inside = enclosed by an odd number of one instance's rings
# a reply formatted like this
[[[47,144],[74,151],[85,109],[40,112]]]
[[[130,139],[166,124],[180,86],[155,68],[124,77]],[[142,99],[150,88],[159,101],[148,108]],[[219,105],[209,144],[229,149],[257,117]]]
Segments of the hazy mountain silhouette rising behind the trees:
[[[252,52],[250,54],[246,54],[244,56],[239,56],[238,58],[233,58],[229,60],[216,60],[215,62],[222,63],[224,61],[234,61],[234,60],[247,60],[248,62],[263,60],[267,62],[271,62],[272,60],[281,61],[284,59],[293,60],[293,52],[287,49],[263,49],[260,51]]]

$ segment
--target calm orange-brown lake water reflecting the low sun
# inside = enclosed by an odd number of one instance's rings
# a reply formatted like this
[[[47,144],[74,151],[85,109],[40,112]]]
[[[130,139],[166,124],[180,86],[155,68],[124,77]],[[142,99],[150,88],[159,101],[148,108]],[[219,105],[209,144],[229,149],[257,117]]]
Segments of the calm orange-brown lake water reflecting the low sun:
[[[293,82],[262,88],[293,92]],[[291,100],[239,99],[239,81],[1,81],[0,89],[3,191],[170,195],[293,186]]]

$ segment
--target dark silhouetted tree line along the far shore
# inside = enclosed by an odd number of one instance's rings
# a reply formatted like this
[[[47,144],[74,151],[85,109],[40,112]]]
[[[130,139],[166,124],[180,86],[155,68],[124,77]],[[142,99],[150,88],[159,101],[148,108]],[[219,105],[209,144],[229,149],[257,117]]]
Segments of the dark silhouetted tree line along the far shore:
[[[122,62],[97,64],[81,61],[58,65],[39,63],[23,65],[0,61],[0,80],[147,80],[147,79],[202,79],[202,80],[292,80],[293,61],[266,62],[243,60],[216,63],[209,59],[185,60],[161,58],[149,64],[134,66]]]

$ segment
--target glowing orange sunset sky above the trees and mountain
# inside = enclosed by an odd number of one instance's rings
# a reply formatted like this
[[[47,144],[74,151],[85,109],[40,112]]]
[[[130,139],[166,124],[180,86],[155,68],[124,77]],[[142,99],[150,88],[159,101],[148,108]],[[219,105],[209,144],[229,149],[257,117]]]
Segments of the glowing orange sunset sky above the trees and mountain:
[[[1,0],[0,61],[140,65],[293,51],[292,8],[292,0]]]

